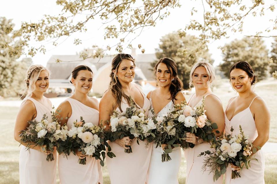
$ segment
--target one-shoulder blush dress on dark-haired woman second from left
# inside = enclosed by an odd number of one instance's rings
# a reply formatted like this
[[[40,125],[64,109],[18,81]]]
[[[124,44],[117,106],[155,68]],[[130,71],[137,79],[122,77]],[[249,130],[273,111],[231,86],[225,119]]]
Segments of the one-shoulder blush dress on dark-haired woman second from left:
[[[70,129],[73,126],[74,121],[80,121],[80,116],[83,117],[85,122],[91,122],[98,126],[99,112],[98,110],[82,104],[80,101],[68,98],[66,99],[72,109],[72,114],[68,119],[67,126]],[[59,155],[58,169],[59,178],[61,184],[68,183],[90,183],[98,184],[103,183],[102,178],[102,167],[100,161],[96,160],[94,157],[87,156],[87,164],[82,165],[78,163],[78,156],[74,155],[72,152],[67,157]]]

